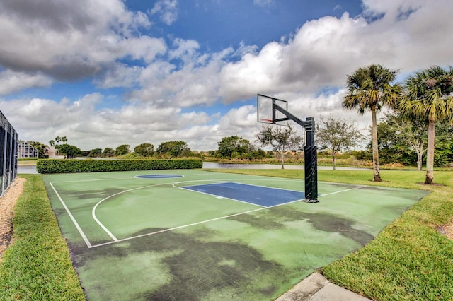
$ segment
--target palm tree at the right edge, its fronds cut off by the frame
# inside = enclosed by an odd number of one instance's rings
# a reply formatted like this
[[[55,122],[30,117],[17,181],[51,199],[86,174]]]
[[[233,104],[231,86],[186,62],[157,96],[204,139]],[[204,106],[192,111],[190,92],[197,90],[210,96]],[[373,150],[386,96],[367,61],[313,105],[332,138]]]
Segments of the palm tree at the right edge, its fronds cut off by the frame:
[[[453,124],[453,67],[445,71],[432,66],[406,79],[405,98],[400,110],[408,117],[428,122],[428,151],[426,153],[425,184],[434,184],[435,124]]]

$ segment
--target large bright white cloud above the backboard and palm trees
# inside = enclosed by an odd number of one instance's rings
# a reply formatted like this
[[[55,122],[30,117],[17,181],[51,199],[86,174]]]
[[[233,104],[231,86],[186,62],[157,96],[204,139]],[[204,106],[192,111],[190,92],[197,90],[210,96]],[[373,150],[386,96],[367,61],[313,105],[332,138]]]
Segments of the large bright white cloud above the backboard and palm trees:
[[[313,95],[324,87],[342,87],[347,74],[367,64],[403,72],[452,64],[453,40],[445,38],[453,32],[445,9],[449,1],[369,0],[365,6],[366,18],[345,13],[311,20],[288,42],[270,42],[226,64],[219,94],[225,102],[265,92]],[[382,14],[369,22],[368,16]]]

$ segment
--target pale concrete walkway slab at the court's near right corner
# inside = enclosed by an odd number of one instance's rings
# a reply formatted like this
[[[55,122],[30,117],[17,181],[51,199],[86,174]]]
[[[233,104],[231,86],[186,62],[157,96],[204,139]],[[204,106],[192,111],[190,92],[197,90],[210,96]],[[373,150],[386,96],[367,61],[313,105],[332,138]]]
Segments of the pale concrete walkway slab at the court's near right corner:
[[[366,297],[340,288],[320,273],[312,273],[276,301],[369,301]]]

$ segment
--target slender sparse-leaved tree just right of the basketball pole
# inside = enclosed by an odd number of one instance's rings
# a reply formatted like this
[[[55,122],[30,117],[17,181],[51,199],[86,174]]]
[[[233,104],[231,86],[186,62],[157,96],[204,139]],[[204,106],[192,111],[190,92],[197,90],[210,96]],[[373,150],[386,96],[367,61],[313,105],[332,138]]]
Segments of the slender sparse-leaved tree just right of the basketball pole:
[[[331,152],[332,165],[335,170],[336,154],[359,145],[363,140],[363,135],[353,122],[329,116],[327,119],[320,117],[319,122],[316,123],[316,140],[321,150],[328,149]]]

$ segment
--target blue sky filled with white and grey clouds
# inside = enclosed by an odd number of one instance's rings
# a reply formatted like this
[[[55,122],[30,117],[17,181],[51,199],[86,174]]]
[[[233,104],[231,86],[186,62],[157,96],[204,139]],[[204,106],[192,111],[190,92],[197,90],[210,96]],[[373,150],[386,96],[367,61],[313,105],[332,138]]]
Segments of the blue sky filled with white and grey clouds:
[[[452,13],[451,0],[1,0],[0,111],[24,141],[82,150],[253,142],[258,93],[365,129],[370,113],[341,108],[348,74],[452,65]]]

